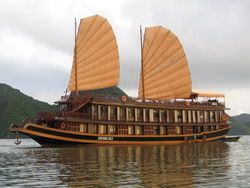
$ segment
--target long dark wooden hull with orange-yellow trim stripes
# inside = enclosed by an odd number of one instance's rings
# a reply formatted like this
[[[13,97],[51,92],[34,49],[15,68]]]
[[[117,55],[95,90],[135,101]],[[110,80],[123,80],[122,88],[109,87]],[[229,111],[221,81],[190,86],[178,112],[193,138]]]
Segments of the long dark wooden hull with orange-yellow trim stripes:
[[[230,127],[227,127],[196,135],[109,135],[66,131],[29,123],[22,128],[11,128],[10,131],[28,135],[42,146],[72,146],[83,144],[175,144],[215,141],[223,140],[229,129]]]

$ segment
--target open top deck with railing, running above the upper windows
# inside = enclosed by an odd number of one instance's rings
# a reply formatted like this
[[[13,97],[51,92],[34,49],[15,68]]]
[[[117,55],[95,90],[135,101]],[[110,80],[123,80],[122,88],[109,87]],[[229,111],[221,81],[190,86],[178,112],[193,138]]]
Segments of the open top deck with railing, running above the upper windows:
[[[219,109],[225,108],[225,102],[217,99],[198,100],[198,99],[172,99],[172,100],[142,100],[136,97],[127,96],[111,96],[111,95],[91,95],[71,98],[70,96],[62,96],[58,104],[80,104],[82,102],[91,102],[92,104],[111,105],[111,106],[128,106],[140,108],[168,108],[168,109]]]

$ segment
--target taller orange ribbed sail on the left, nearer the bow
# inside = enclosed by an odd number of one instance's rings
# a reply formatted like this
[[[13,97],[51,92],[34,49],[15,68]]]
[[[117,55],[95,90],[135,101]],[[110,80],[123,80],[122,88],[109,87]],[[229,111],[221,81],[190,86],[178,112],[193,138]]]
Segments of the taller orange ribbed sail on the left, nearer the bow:
[[[112,27],[105,18],[96,15],[81,19],[74,56],[70,91],[118,85],[118,47]]]

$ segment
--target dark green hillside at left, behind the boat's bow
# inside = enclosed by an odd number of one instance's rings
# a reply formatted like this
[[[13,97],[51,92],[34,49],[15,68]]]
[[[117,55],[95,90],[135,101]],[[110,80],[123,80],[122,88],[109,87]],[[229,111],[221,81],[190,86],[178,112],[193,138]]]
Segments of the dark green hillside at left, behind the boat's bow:
[[[0,138],[11,136],[11,123],[21,123],[41,111],[55,111],[54,105],[24,95],[19,90],[0,83]]]

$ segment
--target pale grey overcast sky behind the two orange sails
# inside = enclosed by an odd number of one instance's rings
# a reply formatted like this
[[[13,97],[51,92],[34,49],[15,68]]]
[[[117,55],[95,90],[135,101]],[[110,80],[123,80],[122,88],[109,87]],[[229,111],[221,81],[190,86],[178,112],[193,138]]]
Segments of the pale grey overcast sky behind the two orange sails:
[[[250,113],[249,10],[247,0],[0,0],[0,82],[42,101],[59,99],[74,18],[99,14],[115,32],[120,87],[130,95],[137,95],[139,26],[162,25],[183,44],[193,89],[225,93],[231,115]]]

